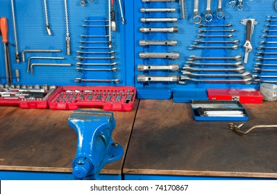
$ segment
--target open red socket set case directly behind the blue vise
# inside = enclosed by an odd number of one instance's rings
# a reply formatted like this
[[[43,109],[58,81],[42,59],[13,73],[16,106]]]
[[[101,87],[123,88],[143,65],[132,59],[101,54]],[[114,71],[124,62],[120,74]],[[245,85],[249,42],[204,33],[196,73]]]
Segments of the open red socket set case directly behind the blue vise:
[[[106,111],[131,111],[135,87],[58,87],[49,98],[50,109],[74,110],[103,107]]]

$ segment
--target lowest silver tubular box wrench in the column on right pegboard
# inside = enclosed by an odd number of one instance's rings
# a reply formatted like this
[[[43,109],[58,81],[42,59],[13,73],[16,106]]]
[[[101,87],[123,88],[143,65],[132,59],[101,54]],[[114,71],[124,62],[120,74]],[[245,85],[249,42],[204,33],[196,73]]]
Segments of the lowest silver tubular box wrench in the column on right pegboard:
[[[178,82],[179,76],[146,76],[138,75],[137,82]]]

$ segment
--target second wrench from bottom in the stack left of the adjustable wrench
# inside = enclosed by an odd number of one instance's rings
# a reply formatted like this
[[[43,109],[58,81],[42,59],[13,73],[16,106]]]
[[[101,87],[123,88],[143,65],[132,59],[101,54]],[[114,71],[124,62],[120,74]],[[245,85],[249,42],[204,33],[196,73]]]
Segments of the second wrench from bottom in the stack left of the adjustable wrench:
[[[252,74],[251,72],[247,71],[245,73],[237,73],[237,74],[204,74],[204,73],[191,73],[190,71],[181,71],[183,75],[188,77],[196,77],[196,78],[251,78]]]

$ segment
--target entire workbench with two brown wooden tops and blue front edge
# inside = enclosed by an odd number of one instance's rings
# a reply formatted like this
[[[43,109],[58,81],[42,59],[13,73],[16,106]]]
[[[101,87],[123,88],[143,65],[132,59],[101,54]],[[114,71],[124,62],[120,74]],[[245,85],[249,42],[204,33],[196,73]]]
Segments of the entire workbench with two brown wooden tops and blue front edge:
[[[277,102],[244,107],[250,119],[242,130],[276,124]],[[190,104],[172,100],[136,100],[132,112],[114,113],[112,136],[124,157],[106,165],[100,179],[277,178],[274,128],[239,136],[230,122],[194,121]],[[0,179],[73,179],[70,114],[0,107]]]

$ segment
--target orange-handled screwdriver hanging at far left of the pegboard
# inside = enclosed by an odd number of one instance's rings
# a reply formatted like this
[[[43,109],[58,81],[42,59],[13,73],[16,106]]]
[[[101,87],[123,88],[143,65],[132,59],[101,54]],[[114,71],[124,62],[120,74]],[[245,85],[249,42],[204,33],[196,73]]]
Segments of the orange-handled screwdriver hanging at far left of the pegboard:
[[[6,67],[6,82],[7,85],[12,84],[12,72],[10,70],[10,55],[8,53],[8,21],[6,17],[0,18],[0,30],[2,35],[2,42],[4,44],[5,53],[5,67]]]

